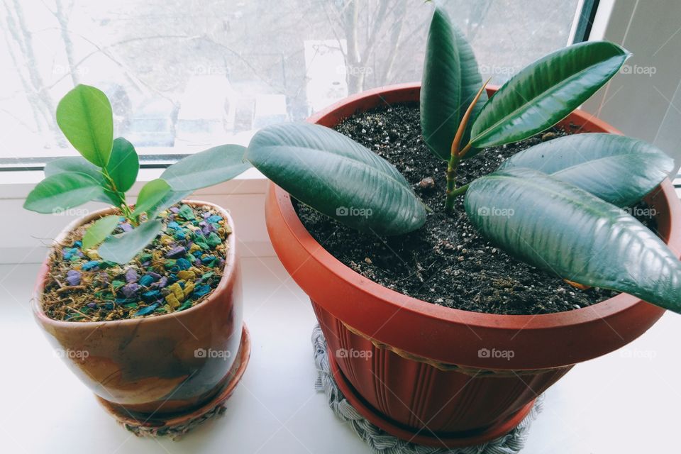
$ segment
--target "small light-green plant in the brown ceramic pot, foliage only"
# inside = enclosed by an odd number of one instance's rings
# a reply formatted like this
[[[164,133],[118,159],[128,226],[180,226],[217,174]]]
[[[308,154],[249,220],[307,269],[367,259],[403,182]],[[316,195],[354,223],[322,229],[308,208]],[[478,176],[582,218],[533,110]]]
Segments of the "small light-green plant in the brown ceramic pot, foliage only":
[[[147,182],[134,206],[126,192],[135,184],[140,168],[133,144],[114,139],[114,118],[106,95],[95,87],[78,85],[57,105],[57,124],[80,153],[45,165],[45,179],[28,194],[24,208],[38,213],[58,213],[88,201],[117,206],[121,213],[100,218],[82,239],[83,250],[98,248],[102,259],[124,264],[135,258],[160,233],[157,216],[202,187],[226,181],[250,167],[243,162],[245,148],[222,145],[184,157],[160,178]],[[134,227],[111,235],[121,216]]]

